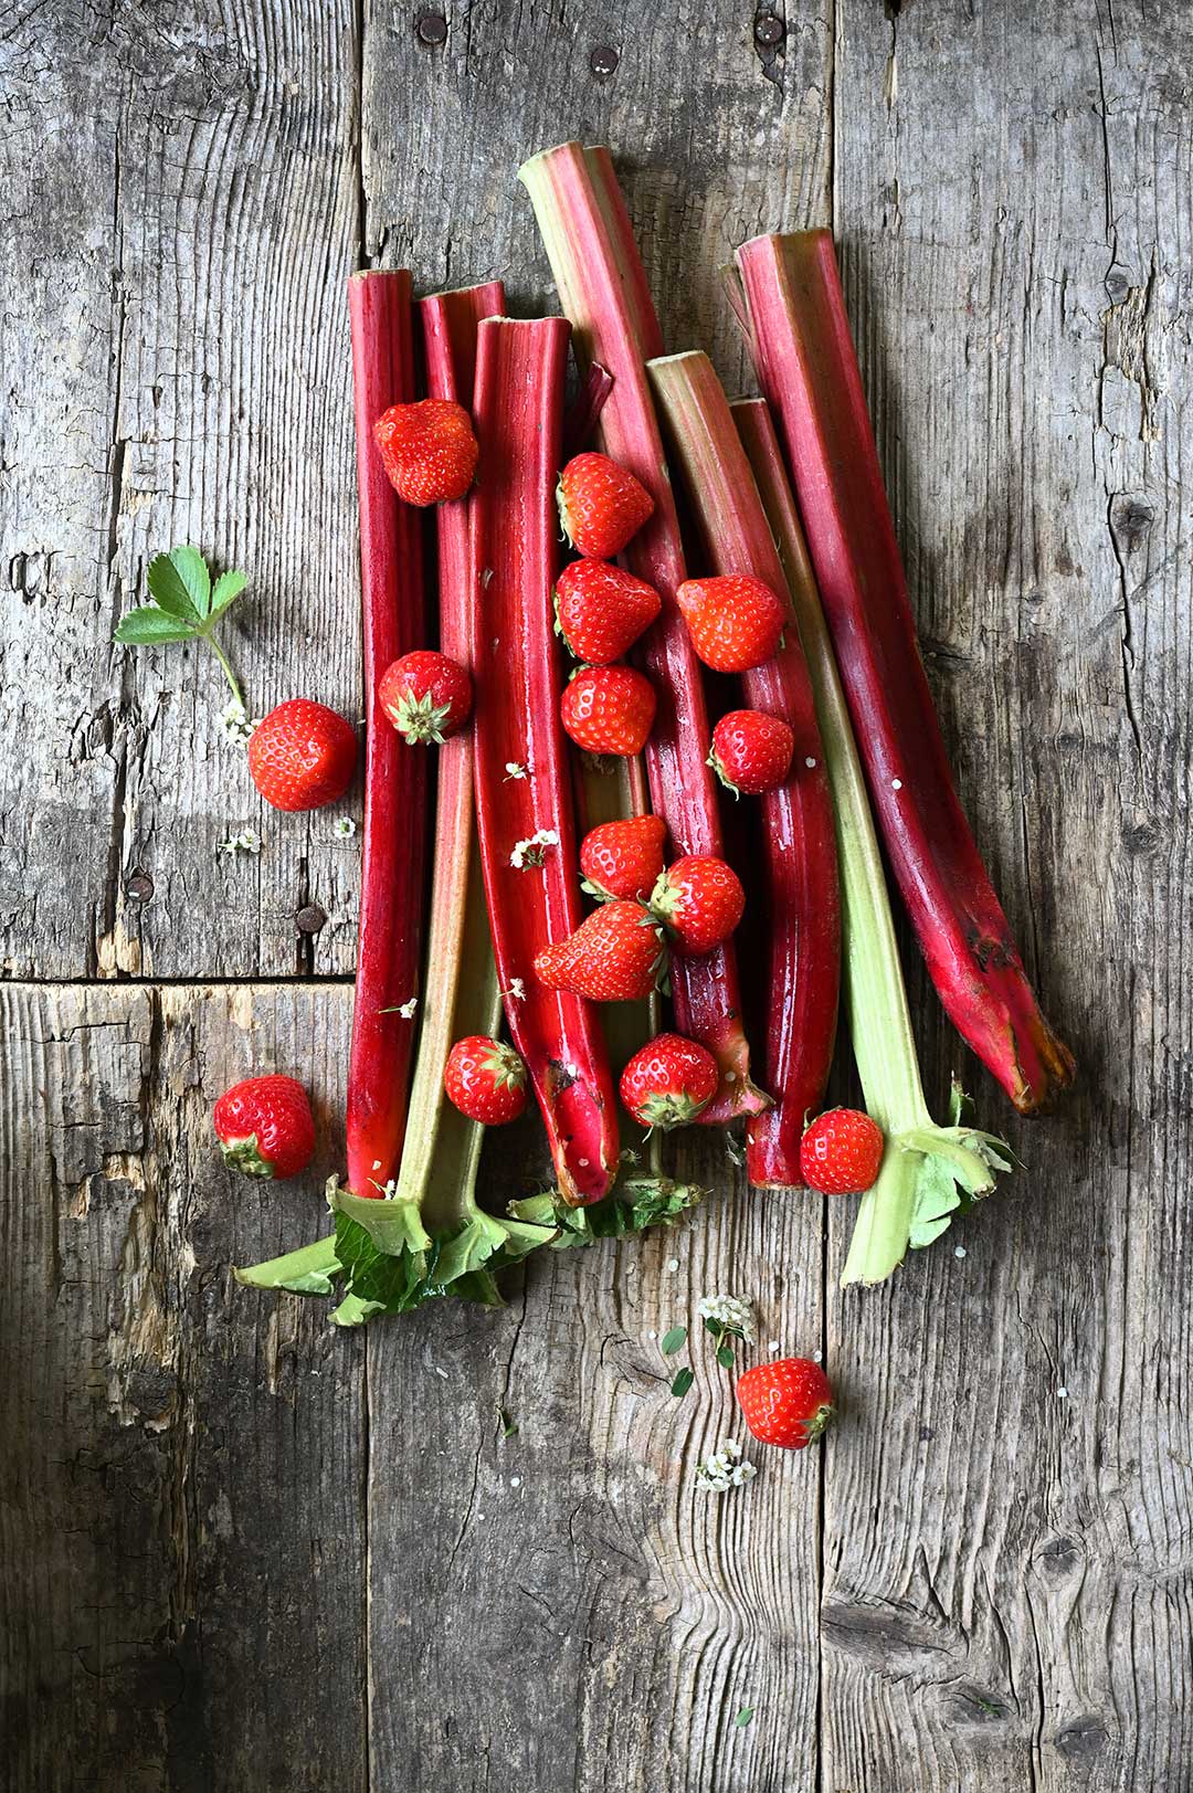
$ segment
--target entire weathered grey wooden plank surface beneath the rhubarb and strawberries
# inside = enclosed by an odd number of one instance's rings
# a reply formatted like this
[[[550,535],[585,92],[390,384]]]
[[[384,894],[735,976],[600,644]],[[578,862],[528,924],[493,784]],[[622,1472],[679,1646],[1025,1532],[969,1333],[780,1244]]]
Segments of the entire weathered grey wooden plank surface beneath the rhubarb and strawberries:
[[[420,16],[0,29],[0,927],[11,977],[90,981],[0,990],[0,1786],[1193,1786],[1193,20],[838,0],[775,50],[730,0]],[[834,222],[958,780],[1085,1081],[888,1291],[836,1293],[845,1207],[746,1198],[696,1137],[719,1200],[673,1239],[334,1336],[226,1266],[319,1221],[350,990],[285,979],[350,972],[355,845],[260,818],[213,667],[109,633],[190,534],[253,576],[255,705],[353,714],[343,276],[542,303],[513,174],[569,134],[614,143],[669,344],[730,384],[718,264]],[[260,861],[217,859],[246,821]],[[95,984],[127,975],[183,983]],[[1003,1124],[911,983],[933,1088],[963,1069]],[[206,1144],[274,1063],[327,1122],[285,1196]],[[701,1354],[673,1402],[649,1338],[718,1287],[843,1399],[725,1501],[691,1477],[727,1379]]]

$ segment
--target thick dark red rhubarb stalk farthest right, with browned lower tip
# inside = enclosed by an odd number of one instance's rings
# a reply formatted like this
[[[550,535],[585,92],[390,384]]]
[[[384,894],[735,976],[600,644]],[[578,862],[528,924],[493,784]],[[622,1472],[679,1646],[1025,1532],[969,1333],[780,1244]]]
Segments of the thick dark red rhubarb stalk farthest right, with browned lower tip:
[[[755,237],[737,265],[895,880],[956,1029],[1033,1113],[1073,1081],[1073,1056],[1041,1013],[953,785],[832,237]]]

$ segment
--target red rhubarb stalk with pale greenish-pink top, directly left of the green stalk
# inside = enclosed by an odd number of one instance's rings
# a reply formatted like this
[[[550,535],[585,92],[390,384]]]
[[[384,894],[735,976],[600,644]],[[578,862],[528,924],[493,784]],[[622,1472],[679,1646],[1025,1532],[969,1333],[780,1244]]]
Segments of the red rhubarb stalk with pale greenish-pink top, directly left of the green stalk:
[[[770,932],[764,1063],[775,1106],[752,1115],[746,1130],[750,1182],[784,1187],[802,1182],[800,1139],[820,1112],[836,1038],[841,895],[832,796],[784,567],[721,382],[703,353],[653,360],[649,375],[709,570],[752,574],[788,610],[779,653],[741,678],[746,703],[780,715],[795,733],[788,782],[759,798]]]

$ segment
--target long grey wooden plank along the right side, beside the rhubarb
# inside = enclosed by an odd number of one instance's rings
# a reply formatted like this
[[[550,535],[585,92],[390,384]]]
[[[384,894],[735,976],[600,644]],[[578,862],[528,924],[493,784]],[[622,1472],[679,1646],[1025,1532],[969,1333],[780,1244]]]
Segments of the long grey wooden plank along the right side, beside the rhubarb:
[[[840,18],[847,296],[960,787],[1084,1087],[1012,1126],[965,1065],[1017,1189],[831,1304],[823,1786],[1182,1786],[1193,32],[886,14]]]

